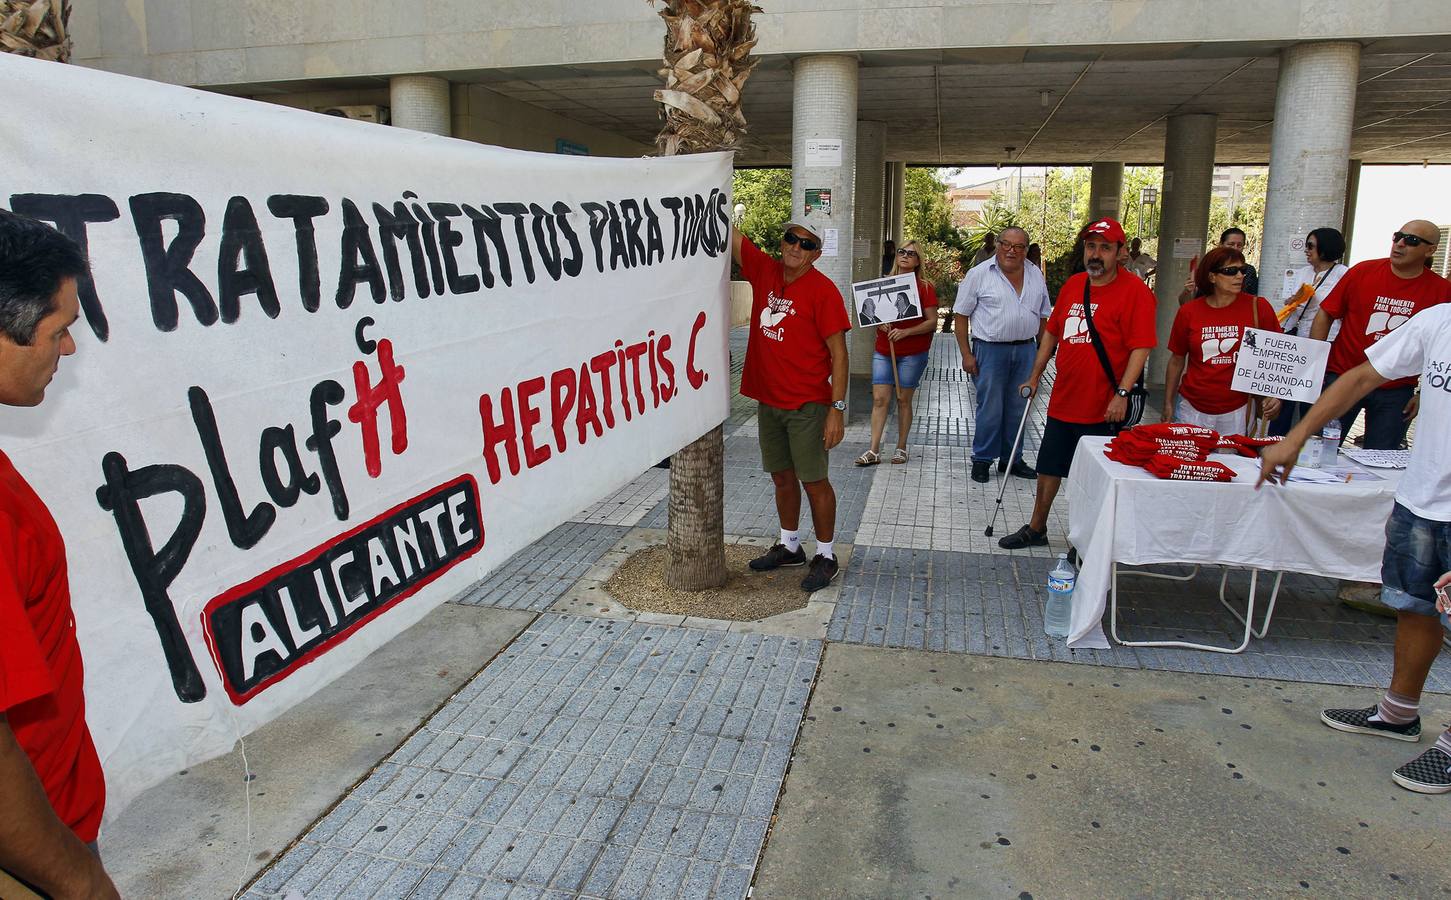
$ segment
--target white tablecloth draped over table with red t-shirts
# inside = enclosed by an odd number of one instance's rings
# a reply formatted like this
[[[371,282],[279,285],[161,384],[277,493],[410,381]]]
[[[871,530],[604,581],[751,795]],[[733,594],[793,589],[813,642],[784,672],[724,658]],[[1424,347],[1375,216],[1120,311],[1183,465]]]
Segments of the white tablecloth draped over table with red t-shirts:
[[[1175,482],[1104,457],[1085,437],[1068,479],[1068,540],[1078,549],[1069,647],[1107,647],[1113,563],[1204,563],[1380,581],[1400,470],[1341,485],[1265,485],[1259,460],[1214,453],[1233,482]]]

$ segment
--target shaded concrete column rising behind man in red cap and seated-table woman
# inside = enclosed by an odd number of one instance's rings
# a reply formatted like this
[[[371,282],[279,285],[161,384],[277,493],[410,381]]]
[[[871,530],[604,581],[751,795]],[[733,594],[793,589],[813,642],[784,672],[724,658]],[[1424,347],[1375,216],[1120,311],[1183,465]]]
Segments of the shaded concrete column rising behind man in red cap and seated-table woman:
[[[1170,116],[1168,135],[1164,139],[1164,196],[1159,213],[1159,271],[1154,279],[1154,292],[1159,298],[1158,335],[1159,345],[1149,356],[1148,380],[1164,383],[1164,366],[1168,361],[1165,344],[1174,315],[1178,312],[1178,293],[1188,277],[1188,257],[1175,258],[1174,241],[1185,240],[1194,247],[1194,255],[1203,255],[1209,232],[1209,196],[1214,189],[1214,131],[1217,116],[1193,113]]]

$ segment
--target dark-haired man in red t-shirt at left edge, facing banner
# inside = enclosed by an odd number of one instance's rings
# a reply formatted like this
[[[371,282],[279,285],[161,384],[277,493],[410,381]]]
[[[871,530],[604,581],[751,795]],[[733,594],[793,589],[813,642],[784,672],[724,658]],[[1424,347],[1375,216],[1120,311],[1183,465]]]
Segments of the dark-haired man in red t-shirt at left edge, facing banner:
[[[75,353],[86,274],[74,241],[0,210],[0,405],[38,405]],[[96,854],[106,784],[81,682],[65,544],[0,451],[0,870],[55,897],[115,897]]]

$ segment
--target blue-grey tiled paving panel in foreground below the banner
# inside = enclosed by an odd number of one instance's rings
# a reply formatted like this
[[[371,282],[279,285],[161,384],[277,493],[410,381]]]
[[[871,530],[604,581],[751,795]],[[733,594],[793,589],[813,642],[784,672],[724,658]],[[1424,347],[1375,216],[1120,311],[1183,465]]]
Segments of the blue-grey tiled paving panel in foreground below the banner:
[[[541,615],[247,897],[744,897],[820,656]]]

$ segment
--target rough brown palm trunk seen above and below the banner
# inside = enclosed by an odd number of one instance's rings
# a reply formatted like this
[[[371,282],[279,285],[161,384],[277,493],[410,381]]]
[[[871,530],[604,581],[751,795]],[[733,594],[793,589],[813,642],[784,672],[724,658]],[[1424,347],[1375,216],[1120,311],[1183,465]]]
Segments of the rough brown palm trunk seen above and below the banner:
[[[654,3],[654,0],[649,0]],[[663,0],[665,155],[733,150],[746,131],[740,91],[755,62],[750,0]],[[724,431],[711,428],[670,457],[670,521],[665,581],[702,591],[726,584]]]

